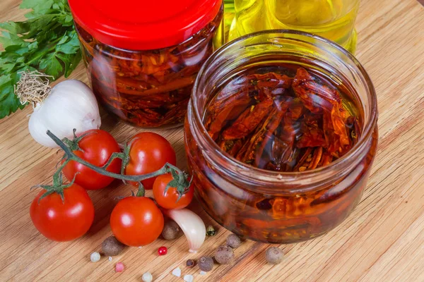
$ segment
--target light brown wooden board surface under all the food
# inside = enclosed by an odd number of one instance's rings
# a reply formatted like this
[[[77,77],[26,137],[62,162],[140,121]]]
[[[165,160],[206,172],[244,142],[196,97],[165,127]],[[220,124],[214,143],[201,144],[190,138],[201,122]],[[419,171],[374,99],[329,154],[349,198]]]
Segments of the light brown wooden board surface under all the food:
[[[22,19],[19,2],[1,0],[0,20]],[[155,281],[182,281],[170,274],[177,266],[194,274],[194,281],[424,281],[424,8],[416,0],[363,1],[357,27],[357,56],[377,89],[380,140],[362,202],[334,231],[281,245],[286,258],[278,266],[264,261],[268,245],[246,242],[235,251],[235,264],[215,266],[206,276],[197,267],[187,269],[185,261],[211,255],[228,235],[223,228],[199,255],[189,254],[180,238],[91,263],[90,253],[111,234],[114,197],[129,195],[129,187],[115,183],[90,192],[95,222],[83,238],[54,243],[40,235],[28,212],[37,192],[29,188],[50,183],[59,156],[30,137],[28,106],[0,121],[0,281],[141,281],[145,271]],[[72,77],[86,81],[83,67]],[[102,128],[119,142],[140,131],[106,115]],[[175,146],[184,167],[182,129],[159,133]],[[160,245],[168,247],[168,255],[156,255]],[[126,266],[121,274],[114,273],[117,262]]]

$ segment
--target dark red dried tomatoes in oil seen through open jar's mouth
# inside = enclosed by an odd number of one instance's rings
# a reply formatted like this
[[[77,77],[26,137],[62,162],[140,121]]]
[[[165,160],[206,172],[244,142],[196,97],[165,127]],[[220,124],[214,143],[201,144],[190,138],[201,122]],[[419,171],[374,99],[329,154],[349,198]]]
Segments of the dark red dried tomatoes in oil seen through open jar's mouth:
[[[245,164],[307,171],[330,164],[358,142],[354,100],[312,70],[288,64],[252,68],[218,90],[204,123],[220,148]]]

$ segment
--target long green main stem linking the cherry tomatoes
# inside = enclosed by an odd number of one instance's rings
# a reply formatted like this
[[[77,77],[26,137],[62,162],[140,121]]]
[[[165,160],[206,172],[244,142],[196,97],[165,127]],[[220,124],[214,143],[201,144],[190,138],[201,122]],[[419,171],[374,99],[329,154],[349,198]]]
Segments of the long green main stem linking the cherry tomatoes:
[[[49,137],[52,138],[52,140],[57,145],[59,145],[59,147],[61,147],[61,149],[64,150],[66,156],[68,157],[66,159],[66,161],[77,161],[78,163],[83,164],[84,166],[87,166],[88,168],[93,169],[93,171],[98,172],[98,173],[100,173],[104,176],[109,176],[109,177],[112,177],[112,178],[117,178],[117,179],[126,180],[126,181],[140,182],[140,181],[146,180],[148,178],[153,178],[153,177],[165,174],[165,173],[169,173],[170,170],[172,170],[172,169],[177,171],[180,176],[184,176],[184,173],[181,170],[179,170],[179,168],[177,168],[176,166],[173,166],[172,164],[168,164],[168,163],[166,163],[158,171],[153,171],[151,173],[147,173],[147,174],[143,174],[143,175],[139,175],[139,176],[125,176],[125,175],[122,175],[122,174],[112,173],[110,171],[106,171],[103,168],[100,168],[98,166],[90,164],[88,161],[85,161],[85,160],[81,159],[80,157],[78,157],[76,154],[74,154],[71,151],[71,149],[69,149],[69,147],[66,147],[64,142],[62,142],[58,137],[56,137],[56,135],[51,133],[50,130],[47,130],[47,135],[49,135]],[[58,173],[58,175],[60,174],[61,168],[63,168],[63,166],[64,166],[63,164],[62,164],[62,166],[60,166],[60,168],[55,173],[55,175],[57,173]]]

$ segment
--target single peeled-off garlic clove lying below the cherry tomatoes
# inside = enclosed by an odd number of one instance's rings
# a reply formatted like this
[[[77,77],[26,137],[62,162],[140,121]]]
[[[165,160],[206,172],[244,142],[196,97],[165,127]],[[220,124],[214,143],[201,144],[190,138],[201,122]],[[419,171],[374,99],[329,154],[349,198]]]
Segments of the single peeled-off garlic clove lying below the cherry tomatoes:
[[[175,221],[189,243],[189,252],[196,253],[206,238],[206,227],[200,216],[189,209],[167,209],[164,213]]]

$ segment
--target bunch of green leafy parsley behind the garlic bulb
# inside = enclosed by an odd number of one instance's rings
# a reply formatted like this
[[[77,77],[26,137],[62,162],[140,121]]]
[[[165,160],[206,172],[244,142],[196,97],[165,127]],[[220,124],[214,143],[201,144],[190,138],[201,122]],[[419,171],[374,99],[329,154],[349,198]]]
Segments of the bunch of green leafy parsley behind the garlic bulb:
[[[68,77],[81,61],[81,50],[67,0],[23,0],[32,9],[23,22],[0,23],[0,118],[25,105],[14,85],[23,71],[42,71],[54,80]]]

